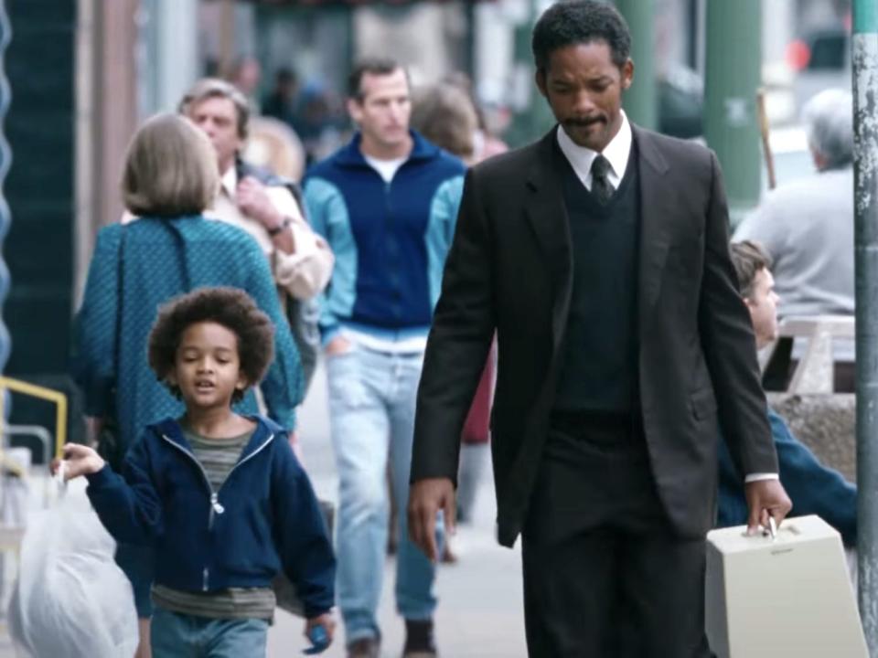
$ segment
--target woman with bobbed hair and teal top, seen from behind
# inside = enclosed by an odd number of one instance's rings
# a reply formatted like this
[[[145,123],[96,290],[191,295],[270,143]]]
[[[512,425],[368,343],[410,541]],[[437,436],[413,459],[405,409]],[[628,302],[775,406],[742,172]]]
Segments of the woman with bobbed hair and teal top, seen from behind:
[[[85,414],[114,469],[124,469],[125,452],[147,424],[184,411],[150,370],[147,337],[159,305],[202,286],[240,288],[271,318],[275,358],[260,384],[262,398],[271,419],[294,430],[302,397],[298,352],[262,250],[240,228],[202,216],[218,185],[213,147],[187,119],[159,114],[134,134],[122,177],[132,220],[98,233],[76,317],[73,359]],[[252,390],[236,409],[258,410]],[[145,639],[152,557],[143,548],[120,545],[116,559],[134,586],[141,618],[137,655],[143,658],[150,655]]]

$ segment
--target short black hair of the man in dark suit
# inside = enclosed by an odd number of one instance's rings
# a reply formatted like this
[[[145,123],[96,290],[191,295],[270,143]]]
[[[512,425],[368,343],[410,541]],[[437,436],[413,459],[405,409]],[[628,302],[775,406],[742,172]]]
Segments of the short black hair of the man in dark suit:
[[[530,47],[537,70],[545,72],[555,50],[593,41],[606,42],[619,69],[631,55],[631,33],[616,7],[597,0],[566,0],[543,12]]]

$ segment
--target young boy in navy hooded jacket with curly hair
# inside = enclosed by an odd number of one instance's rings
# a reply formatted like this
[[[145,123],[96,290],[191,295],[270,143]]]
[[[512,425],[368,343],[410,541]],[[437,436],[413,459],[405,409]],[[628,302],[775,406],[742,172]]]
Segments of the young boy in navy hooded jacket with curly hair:
[[[305,634],[332,639],[335,557],[311,484],[284,430],[231,409],[272,358],[273,325],[245,292],[178,297],[160,309],[149,364],[184,416],[147,427],[123,476],[91,448],[65,446],[65,477],[88,478],[112,536],[155,546],[155,658],[264,656],[282,566]]]

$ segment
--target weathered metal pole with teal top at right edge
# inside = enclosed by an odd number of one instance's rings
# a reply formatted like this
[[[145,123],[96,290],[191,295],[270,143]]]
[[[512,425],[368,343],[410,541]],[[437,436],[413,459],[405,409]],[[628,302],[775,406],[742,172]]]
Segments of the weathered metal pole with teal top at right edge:
[[[878,656],[878,6],[853,3],[853,193],[857,350],[857,556],[860,615]]]

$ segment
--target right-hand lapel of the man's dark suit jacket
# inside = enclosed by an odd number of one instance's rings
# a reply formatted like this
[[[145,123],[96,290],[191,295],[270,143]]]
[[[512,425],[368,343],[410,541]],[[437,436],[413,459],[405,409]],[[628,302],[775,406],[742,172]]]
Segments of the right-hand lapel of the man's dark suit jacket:
[[[661,272],[668,256],[666,222],[674,209],[667,193],[668,163],[649,133],[633,124],[631,128],[640,172],[639,312],[643,320],[659,299]]]

